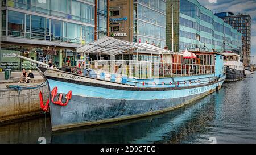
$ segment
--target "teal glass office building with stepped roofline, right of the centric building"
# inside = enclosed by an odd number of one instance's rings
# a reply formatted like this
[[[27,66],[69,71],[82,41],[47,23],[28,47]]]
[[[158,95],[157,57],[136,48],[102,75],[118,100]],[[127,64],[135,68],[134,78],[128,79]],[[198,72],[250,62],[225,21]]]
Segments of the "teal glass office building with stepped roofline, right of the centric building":
[[[167,0],[166,5],[168,49],[172,48],[173,20],[174,52],[184,51],[186,48],[195,51],[241,51],[241,33],[211,10],[201,6],[197,0]]]

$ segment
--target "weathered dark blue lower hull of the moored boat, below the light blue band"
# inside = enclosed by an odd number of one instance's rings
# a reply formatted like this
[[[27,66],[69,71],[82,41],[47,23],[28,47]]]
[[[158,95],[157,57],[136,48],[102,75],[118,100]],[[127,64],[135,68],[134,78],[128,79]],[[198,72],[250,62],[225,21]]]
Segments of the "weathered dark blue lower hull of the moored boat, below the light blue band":
[[[71,105],[69,107],[60,107],[56,106],[55,104],[51,104],[51,110],[54,111],[52,112],[54,114],[51,115],[52,131],[82,127],[86,125],[118,122],[121,120],[161,114],[163,112],[185,106],[186,104],[205,97],[214,91],[216,91],[216,89],[184,98],[164,99],[157,101],[144,100],[143,102],[141,100],[110,100],[72,96],[72,98],[84,101],[81,102],[72,100],[69,102]],[[141,109],[142,106],[138,103],[143,104],[143,110]],[[106,104],[108,104],[108,107],[105,106]],[[102,110],[102,107],[104,107],[104,110]],[[129,110],[124,110],[124,107],[129,107]],[[155,107],[154,110],[152,110],[151,107]]]

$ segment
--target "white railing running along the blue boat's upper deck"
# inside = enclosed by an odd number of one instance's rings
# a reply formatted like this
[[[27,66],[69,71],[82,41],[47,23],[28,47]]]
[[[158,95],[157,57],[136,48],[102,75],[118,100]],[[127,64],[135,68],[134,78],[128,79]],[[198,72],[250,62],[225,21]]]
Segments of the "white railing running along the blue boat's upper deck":
[[[196,76],[202,74],[214,74],[214,65],[198,65],[198,64],[179,64],[179,63],[162,63],[148,62],[137,60],[79,60],[77,61],[80,68],[91,68],[97,73],[104,72],[106,75],[117,74],[119,76],[127,76],[137,79],[152,79],[159,77],[180,77],[180,76]]]

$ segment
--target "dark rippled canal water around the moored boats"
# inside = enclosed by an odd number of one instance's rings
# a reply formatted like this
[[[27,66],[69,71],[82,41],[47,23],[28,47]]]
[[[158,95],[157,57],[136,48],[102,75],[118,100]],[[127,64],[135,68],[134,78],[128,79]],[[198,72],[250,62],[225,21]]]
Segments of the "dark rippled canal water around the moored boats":
[[[39,137],[46,143],[256,143],[256,74],[147,118],[64,132],[51,131],[49,116],[0,127],[0,143],[39,143]]]

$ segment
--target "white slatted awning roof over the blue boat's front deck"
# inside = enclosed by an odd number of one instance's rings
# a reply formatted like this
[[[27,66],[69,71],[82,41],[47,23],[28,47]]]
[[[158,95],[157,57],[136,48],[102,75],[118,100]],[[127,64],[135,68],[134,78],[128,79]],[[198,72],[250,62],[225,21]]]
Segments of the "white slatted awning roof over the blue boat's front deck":
[[[98,48],[97,48],[98,46]],[[143,43],[130,43],[128,41],[118,40],[113,37],[103,37],[92,43],[86,44],[77,48],[78,53],[103,53],[106,55],[118,55],[121,53],[127,53],[133,51],[133,53],[147,53],[161,55],[163,53],[170,53],[171,51],[155,47],[150,44]]]

